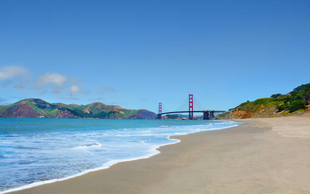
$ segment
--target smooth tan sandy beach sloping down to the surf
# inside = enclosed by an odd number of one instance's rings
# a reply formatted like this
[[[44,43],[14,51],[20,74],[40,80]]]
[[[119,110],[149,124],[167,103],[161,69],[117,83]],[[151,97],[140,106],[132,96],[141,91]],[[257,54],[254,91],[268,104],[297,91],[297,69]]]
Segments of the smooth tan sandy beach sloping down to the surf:
[[[175,136],[148,159],[12,193],[310,193],[310,117]]]

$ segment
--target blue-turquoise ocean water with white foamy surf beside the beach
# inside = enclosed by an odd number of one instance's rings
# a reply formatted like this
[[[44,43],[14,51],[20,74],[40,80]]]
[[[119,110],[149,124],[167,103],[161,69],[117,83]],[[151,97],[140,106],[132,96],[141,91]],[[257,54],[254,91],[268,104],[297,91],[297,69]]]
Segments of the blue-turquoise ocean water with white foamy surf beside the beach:
[[[209,120],[0,118],[0,193],[147,158],[171,135],[239,123]]]

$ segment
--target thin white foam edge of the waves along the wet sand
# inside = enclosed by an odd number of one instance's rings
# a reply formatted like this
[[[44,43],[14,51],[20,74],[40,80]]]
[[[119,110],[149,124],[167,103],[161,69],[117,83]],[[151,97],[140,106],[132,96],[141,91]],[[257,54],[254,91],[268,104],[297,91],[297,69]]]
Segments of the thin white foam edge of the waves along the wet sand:
[[[219,121],[219,122],[220,122],[220,121]],[[226,121],[226,122],[227,122],[227,121]],[[240,121],[237,121],[237,122],[242,123],[242,122],[240,122]],[[236,124],[235,126],[238,126],[238,124]],[[110,160],[110,161],[108,161],[107,163],[104,163],[101,167],[97,167],[97,168],[93,168],[93,169],[87,169],[87,170],[84,170],[84,171],[79,172],[79,173],[77,173],[77,174],[73,174],[73,175],[70,175],[70,176],[63,177],[63,178],[57,178],[57,179],[51,179],[51,180],[38,181],[38,182],[33,182],[33,183],[30,183],[30,184],[23,185],[23,186],[19,186],[19,187],[16,187],[16,188],[10,188],[10,189],[8,189],[8,190],[0,191],[0,194],[12,193],[12,192],[15,192],[15,191],[21,191],[21,190],[24,190],[24,189],[28,189],[28,188],[32,188],[32,187],[36,187],[36,186],[40,186],[40,185],[45,185],[45,184],[50,184],[50,183],[54,183],[54,182],[59,182],[59,181],[68,180],[68,179],[71,179],[71,178],[83,176],[83,175],[85,175],[85,174],[87,174],[87,173],[90,173],[90,172],[95,172],[95,171],[100,171],[100,170],[108,169],[108,168],[110,168],[111,166],[113,166],[113,165],[115,165],[115,164],[118,164],[118,163],[122,163],[122,162],[130,162],[130,161],[136,161],[136,160],[147,159],[147,158],[150,158],[150,157],[153,157],[153,156],[156,156],[156,155],[160,154],[160,153],[161,153],[161,152],[159,151],[160,148],[162,148],[162,147],[164,147],[164,146],[171,145],[171,144],[179,143],[179,142],[181,141],[180,139],[171,138],[171,137],[178,137],[178,136],[183,136],[183,135],[201,133],[201,132],[205,132],[205,131],[223,130],[223,129],[227,129],[227,128],[231,128],[231,127],[235,127],[235,126],[220,127],[220,128],[211,128],[211,129],[208,129],[208,130],[195,131],[195,132],[192,132],[192,133],[180,134],[180,135],[168,135],[168,139],[176,140],[176,141],[175,141],[175,142],[171,142],[171,143],[160,144],[159,146],[154,146],[154,148],[153,148],[153,150],[152,150],[152,153],[150,153],[150,154],[147,154],[147,155],[144,155],[144,156],[141,156],[141,157],[128,158],[128,159],[123,159],[123,160]]]

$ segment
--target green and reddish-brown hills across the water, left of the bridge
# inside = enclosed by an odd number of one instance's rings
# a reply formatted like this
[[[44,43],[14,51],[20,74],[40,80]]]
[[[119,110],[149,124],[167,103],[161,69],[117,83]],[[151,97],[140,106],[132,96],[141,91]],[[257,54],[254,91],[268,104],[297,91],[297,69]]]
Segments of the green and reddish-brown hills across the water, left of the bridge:
[[[103,103],[66,105],[62,103],[50,104],[41,99],[25,99],[8,106],[0,106],[0,117],[154,119],[157,114],[143,109],[129,110]]]

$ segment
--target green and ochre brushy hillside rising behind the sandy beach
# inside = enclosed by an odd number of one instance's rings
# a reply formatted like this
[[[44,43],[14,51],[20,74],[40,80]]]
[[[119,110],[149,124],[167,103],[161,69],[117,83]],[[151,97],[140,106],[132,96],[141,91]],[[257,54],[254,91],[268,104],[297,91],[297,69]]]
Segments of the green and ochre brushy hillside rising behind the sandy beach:
[[[299,115],[310,112],[310,83],[302,84],[287,94],[245,102],[217,118],[247,119]]]

